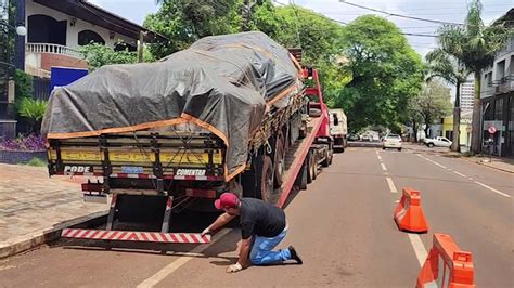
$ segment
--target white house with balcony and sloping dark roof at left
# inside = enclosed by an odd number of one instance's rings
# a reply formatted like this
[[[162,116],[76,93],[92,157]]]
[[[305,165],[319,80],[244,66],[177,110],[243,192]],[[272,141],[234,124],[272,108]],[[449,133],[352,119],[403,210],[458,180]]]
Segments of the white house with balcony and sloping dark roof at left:
[[[87,0],[10,1],[25,3],[23,10],[25,16],[22,17],[27,29],[25,37],[22,37],[25,49],[23,51],[22,47],[22,51],[16,50],[15,53],[16,56],[24,54],[22,67],[27,74],[34,76],[33,96],[37,99],[49,97],[52,67],[88,67],[79,53],[81,45],[94,42],[115,50],[136,51],[141,38],[144,42],[151,42],[157,38],[164,39],[163,36],[93,5]],[[8,0],[0,0],[0,2],[8,3]],[[3,15],[2,19],[4,19]],[[14,23],[13,19],[10,19],[10,23]],[[17,23],[20,24],[21,21],[17,19]],[[2,32],[2,37],[9,39],[9,34]],[[13,126],[16,123],[12,113],[13,93],[12,89],[11,93],[5,89],[9,77],[1,70],[7,69],[0,66],[0,88],[4,88],[0,90],[0,138],[2,135],[12,138],[14,136]]]

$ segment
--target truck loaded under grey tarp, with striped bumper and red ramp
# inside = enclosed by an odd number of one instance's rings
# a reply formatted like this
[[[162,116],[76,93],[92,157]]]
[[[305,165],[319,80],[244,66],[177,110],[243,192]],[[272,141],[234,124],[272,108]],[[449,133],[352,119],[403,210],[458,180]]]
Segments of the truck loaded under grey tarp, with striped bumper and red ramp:
[[[282,207],[294,185],[305,189],[332,162],[333,138],[318,71],[294,54],[261,32],[214,36],[56,88],[42,123],[49,174],[93,176],[85,198],[111,196],[105,231],[63,237],[207,243],[169,233],[171,214],[211,210],[229,191]],[[159,232],[120,231],[149,211]]]

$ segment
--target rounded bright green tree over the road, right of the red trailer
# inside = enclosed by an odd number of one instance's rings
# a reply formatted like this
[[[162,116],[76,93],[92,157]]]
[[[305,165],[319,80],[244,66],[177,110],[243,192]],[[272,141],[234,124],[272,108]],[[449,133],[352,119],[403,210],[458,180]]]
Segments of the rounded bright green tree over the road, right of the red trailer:
[[[394,23],[375,15],[345,27],[343,49],[351,80],[335,103],[347,112],[351,132],[376,125],[400,130],[409,121],[409,100],[423,83],[421,56]]]

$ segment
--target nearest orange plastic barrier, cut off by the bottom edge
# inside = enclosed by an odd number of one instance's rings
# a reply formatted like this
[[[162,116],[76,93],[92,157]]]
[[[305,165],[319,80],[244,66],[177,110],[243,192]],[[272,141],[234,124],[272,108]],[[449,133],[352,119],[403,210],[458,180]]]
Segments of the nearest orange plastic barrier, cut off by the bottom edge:
[[[434,234],[434,245],[417,276],[417,288],[475,287],[472,253],[461,251],[450,235]]]

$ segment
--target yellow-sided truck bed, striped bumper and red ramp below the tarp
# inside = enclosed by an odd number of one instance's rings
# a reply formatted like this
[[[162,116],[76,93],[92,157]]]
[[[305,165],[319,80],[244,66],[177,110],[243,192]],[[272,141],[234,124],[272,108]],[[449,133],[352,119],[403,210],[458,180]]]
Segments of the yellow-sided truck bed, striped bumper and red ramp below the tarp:
[[[185,209],[214,211],[214,200],[229,191],[284,207],[293,187],[307,188],[333,157],[318,71],[308,68],[303,74],[313,80],[313,87],[300,91],[286,109],[265,119],[248,144],[246,167],[229,180],[223,142],[202,129],[50,140],[50,175],[97,178],[82,184],[85,198],[106,201],[111,196],[105,230],[65,228],[62,237],[209,243],[208,235],[171,233],[171,215]],[[125,230],[119,225],[141,221],[158,221],[160,228]]]

